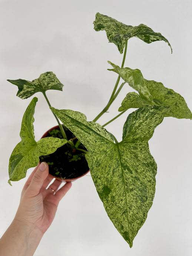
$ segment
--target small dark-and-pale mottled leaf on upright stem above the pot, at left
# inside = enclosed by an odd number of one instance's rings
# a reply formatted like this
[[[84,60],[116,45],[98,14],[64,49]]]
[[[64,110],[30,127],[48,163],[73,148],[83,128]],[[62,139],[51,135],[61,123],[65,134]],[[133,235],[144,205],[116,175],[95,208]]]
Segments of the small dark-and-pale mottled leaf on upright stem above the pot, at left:
[[[57,79],[53,72],[45,72],[32,82],[23,79],[8,79],[7,81],[18,86],[19,91],[17,92],[17,96],[21,99],[27,99],[36,92],[44,93],[47,90],[62,91],[63,88],[63,84],[59,82],[59,79]]]

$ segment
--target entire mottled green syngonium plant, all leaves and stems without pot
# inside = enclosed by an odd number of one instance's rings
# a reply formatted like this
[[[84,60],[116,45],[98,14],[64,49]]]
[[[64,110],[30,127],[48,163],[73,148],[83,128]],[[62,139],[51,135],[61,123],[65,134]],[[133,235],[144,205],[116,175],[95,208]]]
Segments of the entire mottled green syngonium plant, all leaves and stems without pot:
[[[160,82],[146,80],[139,69],[124,68],[128,39],[138,37],[145,43],[163,40],[171,47],[165,37],[146,25],[127,26],[100,13],[96,14],[94,29],[105,30],[109,42],[115,43],[120,53],[124,50],[124,55],[121,66],[109,62],[112,66],[109,70],[118,74],[117,81],[108,104],[92,122],[88,122],[80,112],[59,110],[50,105],[46,91],[62,91],[63,88],[52,72],[43,73],[32,82],[8,80],[18,86],[17,96],[21,99],[42,92],[63,134],[63,139],[49,137],[35,141],[33,114],[37,98],[33,98],[23,116],[21,142],[10,157],[9,183],[24,178],[27,169],[39,163],[40,155],[50,154],[66,143],[78,148],[79,143],[73,145],[66,138],[60,119],[87,148],[85,155],[97,193],[110,220],[132,247],[133,239],[145,222],[155,195],[157,165],[150,154],[148,141],[165,116],[192,119],[192,113],[183,97],[172,89]],[[118,88],[120,78],[123,82]],[[119,108],[121,113],[105,125],[98,124],[96,121],[109,109],[125,83],[138,93],[129,92]],[[137,110],[128,115],[123,126],[122,141],[118,142],[104,127],[129,108]]]

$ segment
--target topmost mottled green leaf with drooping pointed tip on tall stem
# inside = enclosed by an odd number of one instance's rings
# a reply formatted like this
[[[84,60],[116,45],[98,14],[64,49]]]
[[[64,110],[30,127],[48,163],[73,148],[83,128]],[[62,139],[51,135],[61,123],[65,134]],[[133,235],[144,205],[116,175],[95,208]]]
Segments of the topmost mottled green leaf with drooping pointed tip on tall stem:
[[[171,47],[169,41],[164,36],[162,36],[160,33],[154,32],[152,29],[150,29],[150,27],[143,24],[135,27],[125,25],[111,17],[100,13],[96,14],[93,24],[96,31],[106,31],[109,42],[115,43],[120,53],[123,53],[126,40],[130,39],[131,37],[138,37],[145,43],[152,43],[155,41],[163,40]]]

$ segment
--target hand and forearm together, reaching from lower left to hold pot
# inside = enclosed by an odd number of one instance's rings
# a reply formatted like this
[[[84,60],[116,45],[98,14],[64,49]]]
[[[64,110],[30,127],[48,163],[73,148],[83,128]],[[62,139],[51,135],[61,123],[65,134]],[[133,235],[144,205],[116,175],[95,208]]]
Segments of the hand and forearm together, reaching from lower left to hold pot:
[[[24,185],[16,216],[0,239],[0,256],[34,255],[54,219],[59,201],[72,186],[69,182],[57,191],[61,181],[55,180],[52,188],[46,190],[50,181],[49,167],[41,163]]]

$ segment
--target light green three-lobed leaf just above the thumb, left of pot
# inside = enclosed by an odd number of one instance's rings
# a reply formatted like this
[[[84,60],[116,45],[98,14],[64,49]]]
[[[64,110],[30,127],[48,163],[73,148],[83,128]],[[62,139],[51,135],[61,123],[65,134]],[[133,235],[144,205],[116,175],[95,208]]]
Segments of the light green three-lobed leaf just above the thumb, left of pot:
[[[24,113],[20,137],[21,141],[14,148],[9,160],[9,184],[10,181],[17,181],[26,177],[26,172],[30,167],[35,167],[39,163],[41,155],[48,155],[56,151],[57,148],[66,144],[66,140],[47,137],[35,141],[33,128],[33,114],[37,98],[33,98]]]

